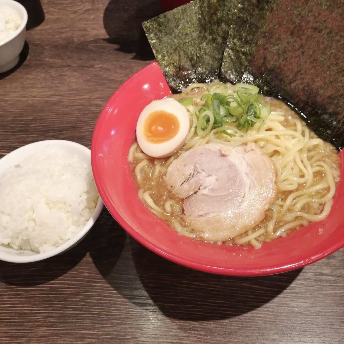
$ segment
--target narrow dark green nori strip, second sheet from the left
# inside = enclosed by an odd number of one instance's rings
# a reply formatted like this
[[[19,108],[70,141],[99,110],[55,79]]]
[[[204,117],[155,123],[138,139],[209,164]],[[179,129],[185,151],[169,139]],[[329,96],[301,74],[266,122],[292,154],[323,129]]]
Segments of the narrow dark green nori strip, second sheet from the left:
[[[233,1],[198,0],[197,82],[218,78],[234,8]]]

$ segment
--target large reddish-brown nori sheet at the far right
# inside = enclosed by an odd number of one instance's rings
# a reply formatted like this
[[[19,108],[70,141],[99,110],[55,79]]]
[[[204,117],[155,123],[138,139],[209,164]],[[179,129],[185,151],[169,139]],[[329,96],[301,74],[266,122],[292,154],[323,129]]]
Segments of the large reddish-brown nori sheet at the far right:
[[[249,64],[266,93],[295,104],[338,150],[344,147],[343,18],[343,0],[276,0]]]

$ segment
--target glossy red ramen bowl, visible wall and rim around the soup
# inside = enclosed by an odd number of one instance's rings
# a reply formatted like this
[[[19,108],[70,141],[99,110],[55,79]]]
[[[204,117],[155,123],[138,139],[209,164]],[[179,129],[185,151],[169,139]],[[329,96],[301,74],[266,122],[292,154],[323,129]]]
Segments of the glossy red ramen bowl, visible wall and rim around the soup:
[[[98,118],[91,147],[94,178],[116,221],[151,251],[177,264],[235,276],[269,275],[303,267],[344,246],[344,159],[341,181],[329,216],[285,238],[253,247],[204,243],[177,234],[139,200],[127,155],[142,109],[170,94],[157,63],[130,77],[112,95]]]

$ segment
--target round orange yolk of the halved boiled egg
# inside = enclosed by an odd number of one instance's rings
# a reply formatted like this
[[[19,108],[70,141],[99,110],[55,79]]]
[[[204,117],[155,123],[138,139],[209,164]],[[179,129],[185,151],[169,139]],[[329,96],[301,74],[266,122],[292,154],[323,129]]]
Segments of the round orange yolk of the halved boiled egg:
[[[150,143],[163,143],[174,138],[179,131],[177,116],[164,110],[151,112],[144,120],[143,134]]]

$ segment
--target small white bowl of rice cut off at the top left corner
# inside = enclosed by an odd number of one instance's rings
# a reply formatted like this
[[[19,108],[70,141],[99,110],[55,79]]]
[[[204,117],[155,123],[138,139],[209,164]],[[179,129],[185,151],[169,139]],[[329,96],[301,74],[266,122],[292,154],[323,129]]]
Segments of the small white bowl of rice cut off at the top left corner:
[[[19,62],[25,43],[28,13],[13,0],[0,0],[0,73],[7,72]]]

